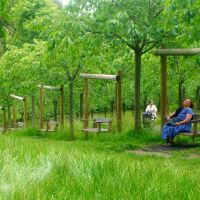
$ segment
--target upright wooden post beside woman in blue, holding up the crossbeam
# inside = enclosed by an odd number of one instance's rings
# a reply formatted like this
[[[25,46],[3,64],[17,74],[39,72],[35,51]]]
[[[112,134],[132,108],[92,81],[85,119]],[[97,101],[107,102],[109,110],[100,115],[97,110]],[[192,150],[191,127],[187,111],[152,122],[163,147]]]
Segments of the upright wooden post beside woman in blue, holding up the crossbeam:
[[[167,57],[165,55],[160,56],[160,61],[160,117],[162,127],[167,114]]]

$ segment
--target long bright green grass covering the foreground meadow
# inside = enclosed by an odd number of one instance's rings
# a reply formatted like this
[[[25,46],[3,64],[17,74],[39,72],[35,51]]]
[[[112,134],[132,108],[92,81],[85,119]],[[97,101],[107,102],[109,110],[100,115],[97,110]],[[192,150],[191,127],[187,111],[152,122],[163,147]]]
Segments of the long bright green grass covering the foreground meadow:
[[[76,127],[75,141],[67,129],[45,137],[33,129],[1,135],[0,199],[199,199],[200,159],[185,156],[199,147],[167,158],[136,155],[127,150],[161,143],[159,132],[127,128],[85,141]]]

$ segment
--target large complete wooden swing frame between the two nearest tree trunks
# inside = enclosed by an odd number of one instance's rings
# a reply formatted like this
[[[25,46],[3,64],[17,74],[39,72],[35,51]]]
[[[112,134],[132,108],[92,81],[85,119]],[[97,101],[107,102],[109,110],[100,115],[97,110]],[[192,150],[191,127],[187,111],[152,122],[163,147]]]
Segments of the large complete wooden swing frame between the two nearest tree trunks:
[[[83,114],[83,128],[88,128],[89,122],[89,112],[88,112],[88,80],[89,79],[100,79],[100,80],[111,80],[116,81],[116,97],[117,97],[117,131],[122,131],[122,72],[118,71],[117,75],[108,74],[80,74],[81,78],[84,78],[84,114]],[[88,132],[85,131],[86,138],[88,137]]]

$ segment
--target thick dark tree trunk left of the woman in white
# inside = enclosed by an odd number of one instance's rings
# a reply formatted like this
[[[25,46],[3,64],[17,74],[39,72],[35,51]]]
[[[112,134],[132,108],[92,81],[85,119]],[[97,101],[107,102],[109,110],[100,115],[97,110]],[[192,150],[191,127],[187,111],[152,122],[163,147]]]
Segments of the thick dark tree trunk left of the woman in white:
[[[141,62],[142,54],[135,50],[135,129],[141,128],[141,110],[140,110],[140,79],[141,79]]]

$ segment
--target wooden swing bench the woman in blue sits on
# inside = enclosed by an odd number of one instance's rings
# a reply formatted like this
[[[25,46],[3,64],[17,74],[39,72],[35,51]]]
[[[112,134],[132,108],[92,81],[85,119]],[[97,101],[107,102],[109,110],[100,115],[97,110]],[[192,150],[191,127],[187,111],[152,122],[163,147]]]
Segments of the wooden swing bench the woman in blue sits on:
[[[191,132],[181,132],[178,135],[192,137],[194,142],[194,138],[200,137],[200,132],[198,131],[198,125],[200,124],[200,114],[194,114],[192,122],[192,131]]]

